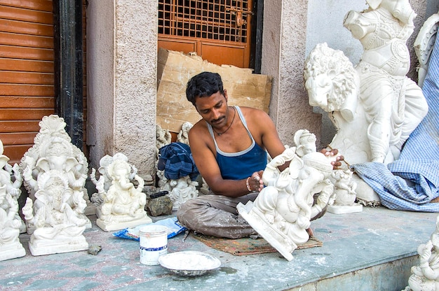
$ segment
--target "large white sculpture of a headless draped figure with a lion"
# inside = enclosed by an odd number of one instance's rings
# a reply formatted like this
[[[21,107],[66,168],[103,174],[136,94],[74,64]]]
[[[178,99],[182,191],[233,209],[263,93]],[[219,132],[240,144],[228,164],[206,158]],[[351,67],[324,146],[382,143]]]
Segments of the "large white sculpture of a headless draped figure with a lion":
[[[350,164],[393,162],[428,111],[410,69],[406,41],[416,16],[408,0],[367,0],[344,26],[363,45],[355,70],[343,53],[320,44],[305,68],[309,104],[320,106],[337,127],[331,142]]]

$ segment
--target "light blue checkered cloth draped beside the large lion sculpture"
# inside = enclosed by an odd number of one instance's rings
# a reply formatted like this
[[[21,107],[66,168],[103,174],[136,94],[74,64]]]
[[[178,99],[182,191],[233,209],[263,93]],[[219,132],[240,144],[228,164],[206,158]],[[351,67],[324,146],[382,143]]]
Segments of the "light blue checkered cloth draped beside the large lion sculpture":
[[[428,114],[410,134],[400,158],[387,166],[373,162],[352,166],[390,209],[439,212],[439,203],[429,203],[439,197],[439,37],[422,91]]]

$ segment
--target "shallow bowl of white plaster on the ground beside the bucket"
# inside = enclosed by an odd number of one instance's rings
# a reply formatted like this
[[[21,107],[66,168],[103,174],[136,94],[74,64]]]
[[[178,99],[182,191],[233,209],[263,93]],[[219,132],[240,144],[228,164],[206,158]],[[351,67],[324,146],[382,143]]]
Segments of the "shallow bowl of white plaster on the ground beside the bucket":
[[[158,257],[158,262],[174,274],[189,277],[201,276],[221,266],[221,262],[216,257],[195,250],[161,255]]]

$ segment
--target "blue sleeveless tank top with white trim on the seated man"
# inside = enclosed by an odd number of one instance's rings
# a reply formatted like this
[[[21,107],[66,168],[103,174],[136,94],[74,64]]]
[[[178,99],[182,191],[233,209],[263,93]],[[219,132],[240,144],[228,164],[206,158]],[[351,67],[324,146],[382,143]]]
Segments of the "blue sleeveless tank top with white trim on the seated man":
[[[208,124],[208,129],[212,139],[215,143],[215,149],[217,150],[217,163],[221,176],[226,180],[242,180],[248,178],[255,171],[264,170],[266,167],[267,152],[263,150],[253,139],[250,130],[248,130],[247,122],[244,115],[241,112],[241,108],[234,106],[236,113],[243,122],[245,129],[247,129],[248,136],[252,139],[252,144],[241,152],[223,152],[218,148],[217,141],[215,140],[215,134],[212,130],[212,126]],[[207,122],[206,122],[207,123]]]

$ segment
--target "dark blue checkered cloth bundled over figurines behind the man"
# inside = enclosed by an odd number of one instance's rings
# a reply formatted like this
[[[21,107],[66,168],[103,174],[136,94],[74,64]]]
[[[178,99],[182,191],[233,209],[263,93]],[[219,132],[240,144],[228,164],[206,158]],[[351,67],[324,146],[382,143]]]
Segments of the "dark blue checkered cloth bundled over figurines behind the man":
[[[185,143],[170,143],[159,150],[157,169],[164,171],[167,179],[177,180],[189,176],[196,180],[199,175],[191,148]]]

